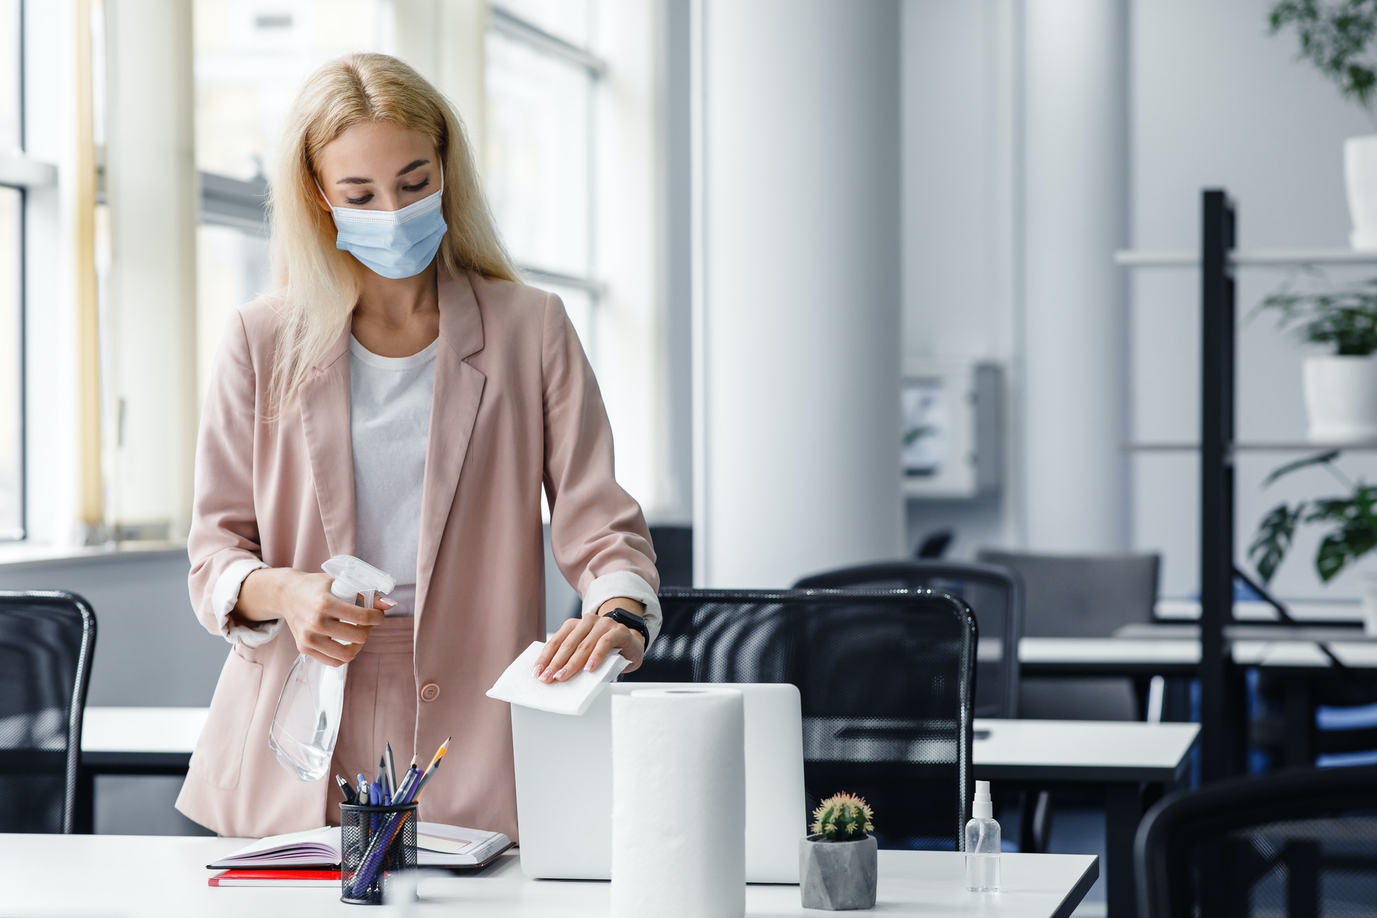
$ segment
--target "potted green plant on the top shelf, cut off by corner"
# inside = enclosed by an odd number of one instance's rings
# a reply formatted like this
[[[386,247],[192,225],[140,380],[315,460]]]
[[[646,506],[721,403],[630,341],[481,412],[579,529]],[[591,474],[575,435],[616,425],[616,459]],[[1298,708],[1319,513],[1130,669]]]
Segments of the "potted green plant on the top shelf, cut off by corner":
[[[1268,15],[1272,34],[1296,28],[1300,57],[1338,87],[1340,95],[1373,113],[1377,91],[1377,4],[1371,0],[1279,0]],[[1354,248],[1377,248],[1377,134],[1344,141],[1344,181]]]

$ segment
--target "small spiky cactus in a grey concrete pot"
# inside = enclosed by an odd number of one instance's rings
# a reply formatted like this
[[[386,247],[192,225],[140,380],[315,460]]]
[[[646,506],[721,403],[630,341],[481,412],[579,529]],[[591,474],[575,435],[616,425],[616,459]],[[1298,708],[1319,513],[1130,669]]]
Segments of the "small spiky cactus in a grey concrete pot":
[[[836,794],[812,810],[811,835],[799,841],[799,893],[804,908],[873,908],[879,845],[870,806]]]

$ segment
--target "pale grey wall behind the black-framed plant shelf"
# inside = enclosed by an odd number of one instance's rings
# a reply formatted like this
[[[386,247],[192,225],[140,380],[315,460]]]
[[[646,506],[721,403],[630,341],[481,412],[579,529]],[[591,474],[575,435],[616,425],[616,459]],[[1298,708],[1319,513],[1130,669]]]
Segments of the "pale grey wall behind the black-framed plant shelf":
[[[1370,134],[1373,124],[1308,63],[1296,61],[1294,33],[1267,34],[1270,6],[1267,0],[1137,0],[1132,6],[1135,247],[1197,248],[1202,187],[1226,187],[1234,196],[1241,247],[1347,247],[1343,142]],[[1336,281],[1366,276],[1327,273]],[[1246,318],[1286,277],[1256,269],[1238,274],[1237,425],[1242,442],[1304,438],[1300,361],[1310,351],[1278,334],[1271,318]],[[1133,274],[1132,343],[1135,440],[1197,441],[1198,272]],[[1235,539],[1241,560],[1257,520],[1282,498],[1338,493],[1323,471],[1307,471],[1261,492],[1263,477],[1290,458],[1294,453],[1239,453]],[[1349,473],[1377,477],[1371,458],[1344,465]],[[1165,551],[1165,594],[1198,589],[1197,466],[1195,453],[1133,460],[1133,540]],[[1352,573],[1329,587],[1319,583],[1314,550],[1311,531],[1283,564],[1276,590],[1292,597],[1355,597]]]

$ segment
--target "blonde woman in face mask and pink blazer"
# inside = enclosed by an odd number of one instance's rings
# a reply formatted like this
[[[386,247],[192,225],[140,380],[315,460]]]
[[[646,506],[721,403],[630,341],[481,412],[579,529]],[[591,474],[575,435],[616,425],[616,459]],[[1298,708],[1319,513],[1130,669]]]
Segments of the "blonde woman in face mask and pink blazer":
[[[516,278],[459,117],[394,58],[307,80],[271,245],[277,289],[231,317],[201,415],[191,601],[233,648],[178,809],[222,835],[337,824],[335,773],[372,776],[384,742],[405,762],[453,736],[424,817],[515,839],[511,721],[483,693],[544,634],[541,485],[584,616],[537,675],[614,651],[633,669],[658,627],[598,383],[559,299]],[[397,589],[372,609],[336,600],[335,554]],[[318,782],[267,744],[299,652],[350,663]]]

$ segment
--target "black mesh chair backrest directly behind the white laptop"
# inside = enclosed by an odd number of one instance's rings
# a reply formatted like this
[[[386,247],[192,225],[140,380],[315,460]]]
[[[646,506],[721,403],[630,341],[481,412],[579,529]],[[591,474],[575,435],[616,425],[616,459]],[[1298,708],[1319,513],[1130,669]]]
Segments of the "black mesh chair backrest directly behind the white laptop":
[[[810,804],[876,808],[881,846],[960,850],[969,817],[976,630],[929,590],[662,590],[654,682],[790,682]]]

